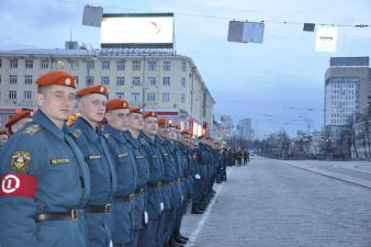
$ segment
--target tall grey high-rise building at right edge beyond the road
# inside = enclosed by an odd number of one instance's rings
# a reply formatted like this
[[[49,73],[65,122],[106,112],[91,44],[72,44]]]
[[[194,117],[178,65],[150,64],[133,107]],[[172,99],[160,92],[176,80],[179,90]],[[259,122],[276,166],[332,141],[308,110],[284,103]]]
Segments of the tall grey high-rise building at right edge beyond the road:
[[[325,132],[340,138],[344,126],[357,113],[368,112],[370,102],[369,57],[331,57],[325,75]]]

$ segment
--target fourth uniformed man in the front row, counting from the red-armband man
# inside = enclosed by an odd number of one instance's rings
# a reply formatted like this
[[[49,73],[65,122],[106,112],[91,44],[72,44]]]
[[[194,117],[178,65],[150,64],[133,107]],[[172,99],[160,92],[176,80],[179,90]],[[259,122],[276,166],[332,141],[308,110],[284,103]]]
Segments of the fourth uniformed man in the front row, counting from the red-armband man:
[[[124,132],[124,137],[128,143],[130,150],[134,155],[135,166],[137,170],[135,198],[134,198],[134,234],[133,242],[130,246],[137,247],[139,242],[145,239],[139,238],[139,232],[145,231],[148,223],[148,213],[146,211],[146,198],[147,198],[147,183],[149,178],[149,162],[146,158],[146,151],[144,149],[146,141],[140,137],[143,131],[143,115],[140,109],[133,108],[130,110],[130,128]]]

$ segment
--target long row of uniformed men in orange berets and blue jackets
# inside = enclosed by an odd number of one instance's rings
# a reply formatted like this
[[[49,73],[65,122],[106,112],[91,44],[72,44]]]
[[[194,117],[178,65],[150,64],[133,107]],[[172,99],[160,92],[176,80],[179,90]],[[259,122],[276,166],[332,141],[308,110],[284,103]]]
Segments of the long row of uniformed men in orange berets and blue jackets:
[[[76,92],[70,74],[36,85],[40,109],[12,117],[0,147],[0,246],[183,246],[188,204],[206,209],[226,179],[227,150],[108,100],[103,86]],[[67,126],[76,98],[81,116]]]

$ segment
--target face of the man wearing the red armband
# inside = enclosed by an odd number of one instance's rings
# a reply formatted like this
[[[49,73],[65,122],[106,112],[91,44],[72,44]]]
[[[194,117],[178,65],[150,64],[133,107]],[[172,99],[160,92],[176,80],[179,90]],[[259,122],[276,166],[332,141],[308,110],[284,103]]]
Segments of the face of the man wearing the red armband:
[[[64,86],[47,86],[37,93],[37,104],[53,122],[65,122],[72,113],[76,103],[75,89]]]

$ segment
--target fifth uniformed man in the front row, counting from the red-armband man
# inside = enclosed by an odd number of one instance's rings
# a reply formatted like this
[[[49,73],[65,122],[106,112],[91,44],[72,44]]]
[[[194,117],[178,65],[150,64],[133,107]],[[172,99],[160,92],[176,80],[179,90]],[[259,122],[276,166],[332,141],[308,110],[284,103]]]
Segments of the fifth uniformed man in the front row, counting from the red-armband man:
[[[162,197],[162,179],[164,179],[164,161],[161,151],[155,138],[158,132],[157,114],[155,112],[144,113],[144,131],[142,137],[147,142],[145,146],[146,156],[149,161],[149,179],[147,184],[147,211],[148,223],[140,235],[143,242],[142,247],[161,247],[159,246],[160,237],[160,217],[164,216],[164,197]]]

